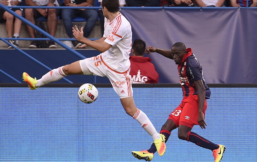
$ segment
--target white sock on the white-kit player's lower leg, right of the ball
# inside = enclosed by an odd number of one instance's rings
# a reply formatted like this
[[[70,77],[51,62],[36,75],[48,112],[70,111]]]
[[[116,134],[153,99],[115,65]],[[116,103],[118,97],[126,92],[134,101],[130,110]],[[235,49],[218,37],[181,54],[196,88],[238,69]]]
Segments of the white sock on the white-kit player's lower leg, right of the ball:
[[[160,138],[159,133],[157,133],[152,122],[149,120],[149,118],[143,111],[137,109],[133,118],[136,119],[141,124],[141,126],[144,128],[144,130],[146,130],[147,133],[149,133],[149,135],[152,136],[153,140]]]

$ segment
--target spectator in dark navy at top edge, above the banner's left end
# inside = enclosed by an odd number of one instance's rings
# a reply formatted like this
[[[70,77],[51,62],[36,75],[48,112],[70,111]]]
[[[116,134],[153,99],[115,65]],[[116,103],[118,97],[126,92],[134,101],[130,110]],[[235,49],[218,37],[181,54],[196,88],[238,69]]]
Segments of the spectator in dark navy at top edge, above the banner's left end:
[[[159,6],[159,0],[126,0],[128,7],[155,7]]]

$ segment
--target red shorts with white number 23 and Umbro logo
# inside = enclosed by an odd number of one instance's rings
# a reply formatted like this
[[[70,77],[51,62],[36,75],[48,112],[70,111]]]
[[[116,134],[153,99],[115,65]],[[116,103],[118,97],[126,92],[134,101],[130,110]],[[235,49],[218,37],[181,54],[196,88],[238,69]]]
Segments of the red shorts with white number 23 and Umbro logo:
[[[193,128],[194,125],[199,125],[198,123],[198,96],[197,95],[190,95],[188,97],[184,97],[181,101],[180,105],[170,113],[168,119],[171,119],[175,122],[176,126],[179,125],[186,125],[190,128]],[[205,99],[204,103],[204,115],[205,110],[207,108],[207,103]]]

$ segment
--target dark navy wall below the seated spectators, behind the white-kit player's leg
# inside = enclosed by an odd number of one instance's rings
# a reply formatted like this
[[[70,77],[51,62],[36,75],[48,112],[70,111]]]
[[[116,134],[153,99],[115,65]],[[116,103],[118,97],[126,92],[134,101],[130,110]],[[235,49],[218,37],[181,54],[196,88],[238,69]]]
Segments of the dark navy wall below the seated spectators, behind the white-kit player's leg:
[[[58,68],[60,66],[70,64],[72,62],[78,61],[81,58],[72,54],[71,52],[63,49],[45,49],[45,50],[37,50],[37,49],[26,49],[24,50],[27,54],[39,60],[46,66],[51,69]],[[101,52],[97,50],[77,50],[77,52],[81,53],[85,57],[97,56]],[[0,50],[0,70],[5,71],[15,79],[20,82],[22,81],[22,73],[27,72],[30,76],[36,77],[40,79],[42,75],[49,72],[47,68],[33,61],[29,57],[25,56],[21,52],[17,50],[8,50],[2,49]],[[73,75],[65,77],[73,83],[85,83],[95,82],[95,77],[93,75]],[[2,83],[16,83],[15,80],[6,76],[2,72],[0,72],[0,82]],[[107,77],[96,77],[97,83],[110,83]],[[56,83],[68,83],[66,80],[61,79]]]

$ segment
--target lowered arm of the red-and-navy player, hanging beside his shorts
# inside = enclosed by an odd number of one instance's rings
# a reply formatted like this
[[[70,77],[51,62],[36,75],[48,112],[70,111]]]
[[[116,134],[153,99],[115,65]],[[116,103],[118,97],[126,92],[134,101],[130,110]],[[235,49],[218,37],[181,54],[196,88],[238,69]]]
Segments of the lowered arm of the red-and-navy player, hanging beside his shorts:
[[[198,117],[198,123],[200,125],[201,128],[206,128],[205,125],[205,121],[204,121],[204,103],[205,103],[205,87],[203,84],[202,80],[194,80],[194,84],[197,88],[198,91],[198,102],[199,102],[199,106],[198,106],[198,113],[199,113],[199,117]]]

